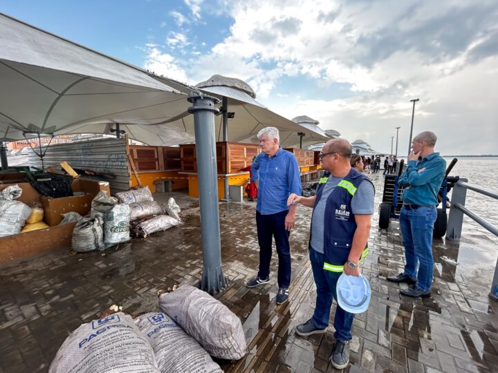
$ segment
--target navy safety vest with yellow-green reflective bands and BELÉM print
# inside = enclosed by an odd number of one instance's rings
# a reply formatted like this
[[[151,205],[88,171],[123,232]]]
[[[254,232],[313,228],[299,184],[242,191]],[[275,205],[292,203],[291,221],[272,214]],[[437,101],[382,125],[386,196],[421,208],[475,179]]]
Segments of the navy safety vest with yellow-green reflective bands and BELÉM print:
[[[326,172],[320,178],[313,212],[322,198],[322,192],[325,183],[329,180],[329,175],[330,173]],[[324,269],[326,271],[342,272],[344,270],[344,263],[348,260],[356,231],[356,220],[351,211],[351,200],[363,180],[368,180],[371,183],[366,175],[351,167],[351,171],[339,182],[326,200],[324,217]],[[313,218],[311,221],[313,222]],[[311,232],[313,232],[313,227],[311,227]],[[368,244],[358,260],[362,260],[367,255]]]

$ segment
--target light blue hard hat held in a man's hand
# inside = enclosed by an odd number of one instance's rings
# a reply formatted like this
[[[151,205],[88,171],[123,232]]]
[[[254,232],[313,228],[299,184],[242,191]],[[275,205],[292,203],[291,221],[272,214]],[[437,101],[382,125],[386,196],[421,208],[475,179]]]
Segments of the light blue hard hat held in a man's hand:
[[[367,311],[370,303],[370,284],[363,276],[348,276],[342,274],[337,283],[337,301],[344,311],[351,314],[361,314]]]

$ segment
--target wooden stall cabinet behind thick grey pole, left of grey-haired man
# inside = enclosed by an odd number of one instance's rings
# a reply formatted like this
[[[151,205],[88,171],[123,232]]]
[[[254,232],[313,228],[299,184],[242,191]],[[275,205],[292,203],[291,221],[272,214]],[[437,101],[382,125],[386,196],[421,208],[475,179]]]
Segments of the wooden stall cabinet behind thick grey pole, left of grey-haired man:
[[[181,171],[197,172],[195,144],[180,146]],[[216,142],[216,168],[218,173],[238,173],[252,163],[259,146],[239,142]]]

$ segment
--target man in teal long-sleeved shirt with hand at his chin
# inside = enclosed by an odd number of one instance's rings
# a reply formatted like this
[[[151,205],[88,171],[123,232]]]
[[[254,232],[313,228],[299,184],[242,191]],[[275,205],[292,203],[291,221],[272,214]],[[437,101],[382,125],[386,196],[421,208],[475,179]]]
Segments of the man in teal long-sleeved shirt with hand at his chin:
[[[393,283],[408,283],[412,287],[400,290],[406,296],[430,296],[434,259],[432,230],[436,221],[437,195],[445,175],[446,161],[434,153],[436,134],[424,131],[414,137],[408,165],[398,180],[403,191],[400,229],[405,246],[405,270],[388,277]],[[418,274],[417,274],[418,267]]]

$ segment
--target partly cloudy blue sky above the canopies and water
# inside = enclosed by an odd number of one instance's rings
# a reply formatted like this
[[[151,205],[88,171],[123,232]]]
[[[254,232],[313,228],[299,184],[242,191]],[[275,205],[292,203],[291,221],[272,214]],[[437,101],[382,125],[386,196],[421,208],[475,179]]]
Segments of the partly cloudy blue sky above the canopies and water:
[[[288,117],[398,153],[414,133],[443,154],[498,154],[498,2],[7,1],[0,12],[196,84],[243,79]],[[394,137],[396,142],[396,137]]]

